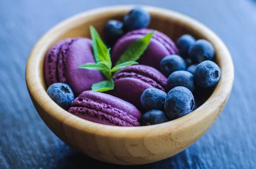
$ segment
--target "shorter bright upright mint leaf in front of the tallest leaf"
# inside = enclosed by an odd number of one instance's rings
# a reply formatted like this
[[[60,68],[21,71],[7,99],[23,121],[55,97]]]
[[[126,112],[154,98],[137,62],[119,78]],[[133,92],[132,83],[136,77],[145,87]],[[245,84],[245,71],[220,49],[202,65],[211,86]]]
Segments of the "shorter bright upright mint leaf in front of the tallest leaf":
[[[109,54],[110,49],[108,49],[107,46],[99,38],[96,38],[96,48],[97,48],[98,54],[102,56],[100,59],[102,61],[108,62],[111,67],[112,63],[111,63],[111,58]]]

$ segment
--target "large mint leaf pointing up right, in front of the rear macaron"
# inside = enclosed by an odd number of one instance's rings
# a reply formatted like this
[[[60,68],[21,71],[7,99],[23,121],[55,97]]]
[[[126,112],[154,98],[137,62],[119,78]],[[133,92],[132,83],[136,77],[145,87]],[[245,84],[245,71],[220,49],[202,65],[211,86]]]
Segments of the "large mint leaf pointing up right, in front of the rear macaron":
[[[143,38],[137,39],[136,41],[134,41],[125,50],[122,56],[120,56],[119,60],[116,62],[116,65],[119,65],[121,63],[128,62],[128,61],[137,61],[137,59],[139,59],[140,56],[143,54],[143,52],[147,49],[153,34],[154,34],[154,31],[145,35]]]

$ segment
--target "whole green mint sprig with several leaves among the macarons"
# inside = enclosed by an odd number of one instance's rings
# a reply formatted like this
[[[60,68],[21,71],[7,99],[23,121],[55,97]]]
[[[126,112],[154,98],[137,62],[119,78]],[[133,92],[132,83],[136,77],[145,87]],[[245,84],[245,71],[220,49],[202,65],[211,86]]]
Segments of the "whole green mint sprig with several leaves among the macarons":
[[[141,39],[134,41],[120,56],[116,65],[112,68],[110,50],[102,41],[99,33],[93,26],[90,26],[90,34],[93,41],[93,56],[95,63],[86,63],[78,68],[89,70],[100,70],[107,80],[95,83],[91,89],[96,92],[105,92],[114,89],[113,74],[129,65],[139,64],[136,62],[148,47],[154,31]]]

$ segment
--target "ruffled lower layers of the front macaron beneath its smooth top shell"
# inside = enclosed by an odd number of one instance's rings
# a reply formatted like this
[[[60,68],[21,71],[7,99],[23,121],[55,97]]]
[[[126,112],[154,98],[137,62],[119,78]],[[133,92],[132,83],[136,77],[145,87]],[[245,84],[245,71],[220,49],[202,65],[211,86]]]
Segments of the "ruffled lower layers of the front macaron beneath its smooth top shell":
[[[140,125],[137,118],[133,115],[102,102],[93,101],[91,99],[76,98],[72,102],[71,106],[72,107],[70,107],[69,112],[72,114],[92,116],[117,126]]]

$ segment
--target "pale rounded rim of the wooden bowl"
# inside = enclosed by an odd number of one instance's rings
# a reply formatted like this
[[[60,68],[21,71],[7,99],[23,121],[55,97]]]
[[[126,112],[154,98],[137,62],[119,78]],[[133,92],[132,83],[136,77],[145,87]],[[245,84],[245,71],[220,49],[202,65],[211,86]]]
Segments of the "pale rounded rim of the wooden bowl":
[[[140,5],[151,14],[172,18],[173,20],[179,20],[180,23],[189,26],[189,28],[193,29],[194,31],[200,31],[200,33],[212,43],[215,49],[217,49],[216,52],[218,51],[218,56],[223,56],[222,58],[216,57],[217,62],[221,68],[221,78],[214,92],[209,97],[209,99],[204,102],[204,104],[202,104],[200,107],[198,107],[196,110],[189,113],[188,115],[162,124],[140,127],[119,127],[98,124],[92,121],[81,119],[67,112],[66,110],[63,110],[47,95],[44,82],[41,82],[43,72],[41,72],[40,66],[42,64],[40,64],[40,62],[42,62],[41,60],[43,57],[43,53],[47,48],[49,48],[49,44],[51,44],[53,41],[49,39],[55,39],[59,37],[61,35],[61,32],[59,32],[60,29],[62,29],[62,31],[67,31],[69,28],[76,27],[77,25],[79,25],[76,20],[79,20],[81,18],[88,18],[88,16],[94,15],[103,15],[109,12],[116,14],[119,14],[120,12],[124,13],[129,11],[134,6],[135,5],[115,5],[93,8],[68,17],[67,19],[57,23],[52,28],[50,28],[40,39],[38,39],[38,42],[36,42],[36,44],[32,48],[32,51],[30,52],[29,58],[27,60],[26,85],[31,99],[34,99],[36,103],[44,109],[44,112],[48,113],[52,118],[57,121],[61,121],[63,125],[67,125],[73,128],[73,130],[80,130],[83,132],[94,133],[96,135],[102,136],[111,135],[111,137],[119,138],[138,138],[145,135],[145,133],[147,132],[154,132],[154,135],[156,136],[164,132],[169,132],[170,130],[177,128],[177,126],[179,127],[179,129],[182,129],[184,127],[193,127],[195,124],[207,119],[210,115],[213,114],[213,112],[218,111],[217,115],[214,115],[212,117],[216,120],[220,115],[224,105],[226,104],[233,87],[233,61],[227,47],[212,30],[207,28],[207,26],[200,23],[199,21],[189,16],[186,16],[185,14],[181,14],[177,11],[172,11],[170,9],[155,6]],[[69,24],[71,22],[74,24]],[[201,114],[202,111],[204,112],[203,114]],[[212,122],[212,124],[213,123],[214,122]],[[209,126],[211,126],[212,124],[209,124]]]

